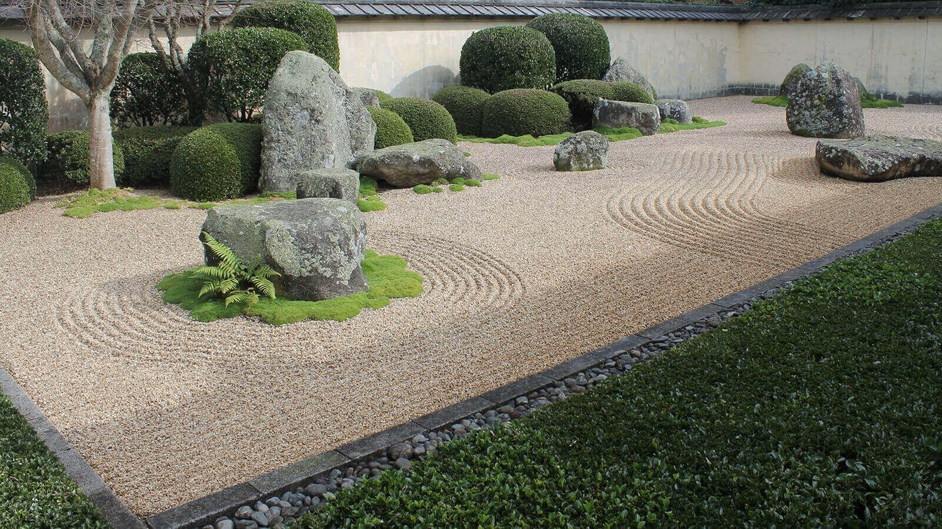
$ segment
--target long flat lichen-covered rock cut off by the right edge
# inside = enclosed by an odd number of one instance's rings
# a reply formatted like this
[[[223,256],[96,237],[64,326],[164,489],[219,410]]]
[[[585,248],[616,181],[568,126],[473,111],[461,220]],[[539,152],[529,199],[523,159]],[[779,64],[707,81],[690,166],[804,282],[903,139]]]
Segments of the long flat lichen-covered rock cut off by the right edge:
[[[848,180],[884,182],[910,176],[942,176],[942,142],[898,136],[820,139],[821,171]]]

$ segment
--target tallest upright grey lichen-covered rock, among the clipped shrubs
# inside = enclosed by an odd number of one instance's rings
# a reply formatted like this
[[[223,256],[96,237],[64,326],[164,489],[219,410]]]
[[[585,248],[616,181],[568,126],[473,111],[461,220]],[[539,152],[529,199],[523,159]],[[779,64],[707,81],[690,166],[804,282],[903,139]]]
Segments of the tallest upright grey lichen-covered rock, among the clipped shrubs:
[[[324,59],[288,52],[268,83],[263,113],[263,191],[286,193],[312,168],[343,168],[373,150],[376,123]]]

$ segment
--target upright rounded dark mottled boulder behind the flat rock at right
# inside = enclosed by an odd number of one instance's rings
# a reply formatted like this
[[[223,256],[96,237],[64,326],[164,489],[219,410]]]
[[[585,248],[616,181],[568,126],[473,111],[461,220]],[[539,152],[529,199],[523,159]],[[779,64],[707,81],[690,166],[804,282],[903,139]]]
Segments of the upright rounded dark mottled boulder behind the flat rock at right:
[[[833,62],[806,72],[788,96],[788,130],[797,136],[864,135],[864,109],[850,73]]]

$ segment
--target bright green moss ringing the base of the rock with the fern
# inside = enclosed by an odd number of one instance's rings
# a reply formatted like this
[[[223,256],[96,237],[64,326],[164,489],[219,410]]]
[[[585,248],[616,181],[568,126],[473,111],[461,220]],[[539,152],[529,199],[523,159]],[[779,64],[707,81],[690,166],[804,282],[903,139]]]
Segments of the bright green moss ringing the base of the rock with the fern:
[[[157,284],[164,292],[164,302],[180,305],[189,315],[202,322],[234,318],[239,314],[257,316],[262,321],[279,326],[303,320],[344,321],[363,309],[380,309],[394,297],[418,297],[422,294],[422,278],[406,270],[406,261],[395,255],[379,255],[366,250],[363,271],[369,291],[353,296],[334,297],[323,301],[293,301],[284,297],[262,297],[252,305],[226,304],[221,299],[200,297],[202,281],[193,276],[193,270],[171,274]]]

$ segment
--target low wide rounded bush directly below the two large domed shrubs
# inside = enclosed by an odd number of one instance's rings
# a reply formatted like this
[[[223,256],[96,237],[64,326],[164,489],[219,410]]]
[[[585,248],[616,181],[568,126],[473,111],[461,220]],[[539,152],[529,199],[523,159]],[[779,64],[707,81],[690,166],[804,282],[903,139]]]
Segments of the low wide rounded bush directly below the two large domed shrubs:
[[[544,136],[569,130],[569,104],[560,94],[535,88],[497,92],[485,103],[481,136]]]

